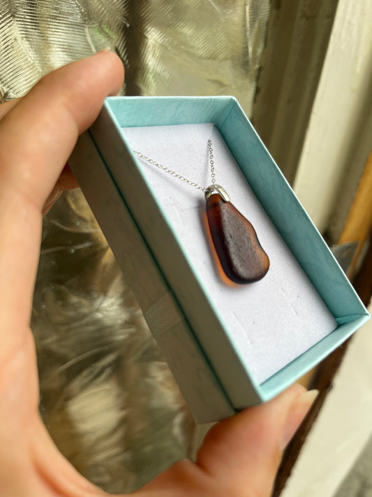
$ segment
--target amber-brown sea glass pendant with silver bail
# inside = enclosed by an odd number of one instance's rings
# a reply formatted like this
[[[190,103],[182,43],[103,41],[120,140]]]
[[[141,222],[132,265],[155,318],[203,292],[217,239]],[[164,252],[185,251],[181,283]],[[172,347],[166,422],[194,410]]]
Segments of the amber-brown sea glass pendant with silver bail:
[[[209,231],[225,275],[239,284],[261,280],[270,261],[252,224],[219,185],[207,187],[205,200]]]

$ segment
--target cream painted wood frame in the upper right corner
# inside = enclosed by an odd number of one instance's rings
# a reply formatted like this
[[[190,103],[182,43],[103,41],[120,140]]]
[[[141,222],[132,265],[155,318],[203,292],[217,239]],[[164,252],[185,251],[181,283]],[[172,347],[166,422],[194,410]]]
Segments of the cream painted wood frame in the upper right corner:
[[[327,229],[345,175],[360,175],[371,147],[372,120],[365,117],[371,115],[371,20],[371,0],[338,3],[294,183],[320,231]],[[356,154],[361,159],[350,170]]]

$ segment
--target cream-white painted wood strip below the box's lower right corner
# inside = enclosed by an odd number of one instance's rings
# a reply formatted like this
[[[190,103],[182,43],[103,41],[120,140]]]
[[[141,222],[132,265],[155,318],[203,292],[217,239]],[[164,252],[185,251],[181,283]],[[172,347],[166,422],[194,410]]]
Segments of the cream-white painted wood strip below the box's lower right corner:
[[[352,468],[372,434],[371,356],[369,321],[352,339],[281,497],[332,497]]]

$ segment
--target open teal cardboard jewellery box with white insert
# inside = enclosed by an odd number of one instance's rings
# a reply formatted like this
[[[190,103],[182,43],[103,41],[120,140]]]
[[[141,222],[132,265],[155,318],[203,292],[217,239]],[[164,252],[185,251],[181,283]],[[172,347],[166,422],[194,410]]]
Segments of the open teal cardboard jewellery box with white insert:
[[[200,190],[216,180],[270,258],[259,282],[221,279]],[[110,97],[69,164],[197,422],[269,400],[369,314],[230,96]]]

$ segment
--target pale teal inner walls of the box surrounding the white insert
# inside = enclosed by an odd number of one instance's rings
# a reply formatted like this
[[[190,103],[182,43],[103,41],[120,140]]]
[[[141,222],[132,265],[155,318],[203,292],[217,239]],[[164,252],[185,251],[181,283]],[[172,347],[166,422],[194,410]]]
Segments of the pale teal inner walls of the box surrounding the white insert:
[[[262,400],[297,380],[369,319],[332,252],[233,97],[110,97],[105,108],[124,143],[121,127],[214,122],[272,222],[336,317],[339,326],[334,332],[261,385],[246,370],[247,380]],[[127,150],[136,164],[137,159]],[[147,187],[151,190],[150,185]],[[159,206],[158,210],[162,212]],[[241,352],[235,352],[241,359]]]

